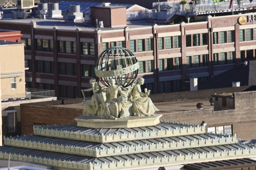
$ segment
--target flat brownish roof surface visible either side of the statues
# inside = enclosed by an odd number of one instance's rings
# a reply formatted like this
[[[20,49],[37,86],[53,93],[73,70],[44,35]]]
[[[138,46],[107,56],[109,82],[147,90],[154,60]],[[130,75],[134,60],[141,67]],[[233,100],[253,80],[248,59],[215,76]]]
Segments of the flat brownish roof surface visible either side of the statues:
[[[209,99],[181,100],[181,101],[174,101],[174,102],[158,102],[158,103],[154,103],[154,105],[158,109],[160,109],[160,112],[156,112],[156,113],[161,114],[161,113],[168,113],[168,112],[196,110],[197,103],[199,102],[204,103],[204,109],[207,109],[207,108],[213,109],[213,106],[210,105]],[[72,109],[83,109],[83,103],[71,104],[71,105],[53,105],[53,106],[72,108]]]

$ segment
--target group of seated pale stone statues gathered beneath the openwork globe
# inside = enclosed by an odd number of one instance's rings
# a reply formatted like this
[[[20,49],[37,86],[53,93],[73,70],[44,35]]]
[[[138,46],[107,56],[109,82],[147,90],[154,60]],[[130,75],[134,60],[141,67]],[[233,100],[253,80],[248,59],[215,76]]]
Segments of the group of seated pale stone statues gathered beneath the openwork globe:
[[[84,95],[84,116],[99,116],[102,119],[118,119],[127,116],[151,116],[159,111],[148,97],[150,90],[145,88],[141,91],[140,85],[144,79],[137,79],[136,83],[127,88],[116,85],[115,79],[110,79],[107,88],[102,87],[96,79],[90,79],[91,88],[81,90],[92,91],[91,100],[85,100]]]

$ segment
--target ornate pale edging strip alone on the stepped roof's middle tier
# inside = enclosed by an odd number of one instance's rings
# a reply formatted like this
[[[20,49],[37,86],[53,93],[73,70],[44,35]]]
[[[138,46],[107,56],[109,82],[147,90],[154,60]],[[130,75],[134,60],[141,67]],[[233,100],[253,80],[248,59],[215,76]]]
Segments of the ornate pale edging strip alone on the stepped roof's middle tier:
[[[92,157],[102,157],[102,156],[116,156],[116,155],[124,155],[124,154],[135,154],[139,152],[149,152],[149,151],[166,151],[173,149],[186,149],[193,147],[210,147],[210,146],[218,146],[222,144],[235,144],[236,135],[231,136],[216,136],[216,137],[208,137],[201,138],[199,140],[180,140],[173,142],[159,142],[152,144],[144,144],[137,146],[124,146],[124,147],[115,147],[108,149],[90,149],[85,147],[76,147],[76,146],[68,146],[62,144],[53,144],[53,143],[45,143],[45,142],[36,142],[36,141],[28,141],[22,140],[22,137],[19,138],[9,138],[4,137],[5,145],[7,146],[16,146],[16,147],[26,147],[31,149],[40,149],[45,151],[56,151],[61,153],[68,154],[76,154],[83,156],[92,156]]]

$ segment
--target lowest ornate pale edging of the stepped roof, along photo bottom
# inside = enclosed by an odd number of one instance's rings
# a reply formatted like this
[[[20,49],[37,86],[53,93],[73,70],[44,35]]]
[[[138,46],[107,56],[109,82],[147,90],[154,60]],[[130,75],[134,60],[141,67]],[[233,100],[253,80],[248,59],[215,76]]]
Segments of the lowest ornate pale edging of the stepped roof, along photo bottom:
[[[112,161],[112,162],[104,162],[104,163],[78,163],[78,162],[71,162],[65,160],[56,160],[50,158],[41,158],[41,157],[32,157],[26,155],[17,155],[17,154],[9,154],[3,153],[0,151],[0,158],[1,159],[8,159],[10,155],[11,160],[16,161],[28,161],[33,163],[40,163],[44,165],[52,165],[55,167],[60,168],[69,168],[69,169],[76,169],[76,170],[119,170],[124,168],[136,168],[138,165],[145,165],[152,166],[152,165],[177,165],[183,163],[195,163],[200,160],[200,162],[206,161],[218,161],[218,160],[225,160],[225,159],[232,159],[232,158],[247,158],[247,157],[255,157],[256,155],[256,148],[252,146],[247,146],[245,149],[231,149],[231,150],[224,150],[224,151],[216,151],[216,152],[203,152],[203,153],[194,153],[194,154],[187,154],[187,155],[177,155],[177,156],[157,156],[157,157],[149,157],[149,158],[142,158],[142,159],[133,159],[133,160],[126,160],[126,161]]]

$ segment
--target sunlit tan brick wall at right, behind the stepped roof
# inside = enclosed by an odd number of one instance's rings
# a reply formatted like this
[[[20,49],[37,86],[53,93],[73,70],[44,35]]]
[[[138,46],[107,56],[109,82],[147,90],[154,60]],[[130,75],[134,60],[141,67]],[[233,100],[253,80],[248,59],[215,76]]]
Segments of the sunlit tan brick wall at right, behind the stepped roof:
[[[256,139],[256,91],[233,93],[235,109],[213,111],[199,109],[163,114],[161,120],[182,123],[200,124],[205,121],[206,127],[232,125],[233,135],[237,138]]]

